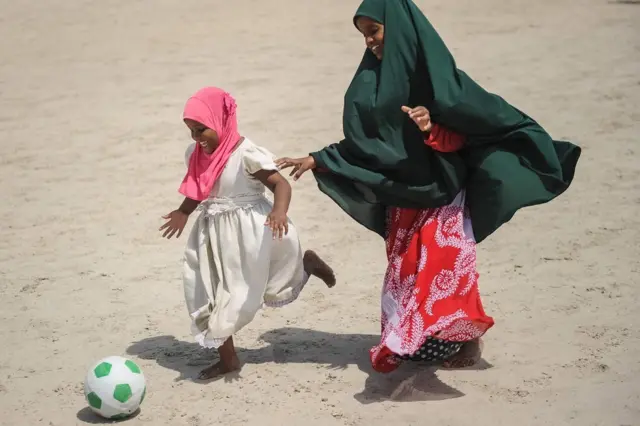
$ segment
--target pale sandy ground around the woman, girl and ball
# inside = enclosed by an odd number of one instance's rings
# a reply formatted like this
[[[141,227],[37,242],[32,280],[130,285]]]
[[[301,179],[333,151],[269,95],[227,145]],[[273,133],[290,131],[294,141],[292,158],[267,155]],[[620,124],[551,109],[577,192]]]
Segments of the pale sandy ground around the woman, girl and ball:
[[[470,371],[372,373],[383,244],[309,177],[292,218],[335,266],[207,361],[183,304],[177,206],[187,96],[219,85],[282,155],[339,140],[362,54],[354,0],[0,0],[0,425],[99,423],[86,369],[137,360],[130,425],[640,424],[640,5],[420,1],[458,64],[584,148],[574,185],[479,247],[497,321]],[[250,12],[242,12],[247,10]]]

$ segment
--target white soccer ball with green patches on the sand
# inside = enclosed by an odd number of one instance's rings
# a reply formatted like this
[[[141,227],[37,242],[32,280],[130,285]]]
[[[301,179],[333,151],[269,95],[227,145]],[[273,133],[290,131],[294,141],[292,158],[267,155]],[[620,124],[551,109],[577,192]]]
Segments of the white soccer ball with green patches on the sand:
[[[135,362],[110,356],[98,361],[87,373],[84,395],[98,415],[120,420],[135,413],[146,393],[144,375]]]

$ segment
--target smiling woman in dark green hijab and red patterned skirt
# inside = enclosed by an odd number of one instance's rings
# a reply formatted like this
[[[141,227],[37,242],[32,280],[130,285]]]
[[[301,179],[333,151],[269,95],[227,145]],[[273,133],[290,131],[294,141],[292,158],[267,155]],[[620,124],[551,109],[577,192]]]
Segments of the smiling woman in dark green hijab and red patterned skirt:
[[[520,208],[573,180],[580,148],[486,92],[456,64],[411,0],[364,0],[367,50],[345,95],[345,139],[284,158],[356,221],[385,238],[389,266],[374,368],[402,359],[465,367],[493,325],[477,287],[475,245]],[[431,124],[433,122],[433,124]]]

